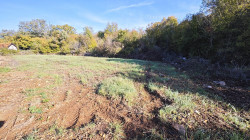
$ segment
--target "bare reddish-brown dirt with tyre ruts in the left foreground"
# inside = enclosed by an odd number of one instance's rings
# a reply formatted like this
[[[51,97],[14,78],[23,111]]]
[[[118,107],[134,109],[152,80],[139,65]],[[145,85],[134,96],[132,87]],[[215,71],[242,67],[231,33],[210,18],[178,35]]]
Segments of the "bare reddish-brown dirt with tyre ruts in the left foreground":
[[[41,87],[46,84],[37,78],[31,80],[31,75],[17,72],[4,76],[10,81],[1,85],[4,88],[1,89],[0,119],[5,122],[0,128],[1,138],[21,138],[33,130],[48,130],[53,124],[64,129],[78,128],[92,122],[93,118],[122,123],[127,138],[143,137],[144,132],[153,128],[170,131],[169,126],[156,120],[153,113],[162,106],[161,99],[144,89],[141,91],[144,97],[138,100],[138,104],[147,106],[129,107],[123,100],[111,100],[96,94],[95,88],[84,87],[79,80],[65,73],[66,81],[70,82],[52,89],[53,96],[45,104],[38,100],[40,96],[33,97],[32,102],[23,93],[25,89],[38,87],[38,83]],[[43,113],[30,113],[31,106],[43,108]],[[45,137],[42,135],[40,137]],[[78,137],[76,133],[74,136]]]

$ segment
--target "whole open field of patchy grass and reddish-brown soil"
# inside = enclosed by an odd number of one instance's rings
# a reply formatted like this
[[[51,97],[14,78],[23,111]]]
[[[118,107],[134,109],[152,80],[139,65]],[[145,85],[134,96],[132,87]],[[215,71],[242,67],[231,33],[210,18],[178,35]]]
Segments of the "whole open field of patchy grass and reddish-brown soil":
[[[2,60],[1,139],[250,138],[250,103],[236,106],[168,64],[59,55]],[[239,92],[248,99],[247,89]]]

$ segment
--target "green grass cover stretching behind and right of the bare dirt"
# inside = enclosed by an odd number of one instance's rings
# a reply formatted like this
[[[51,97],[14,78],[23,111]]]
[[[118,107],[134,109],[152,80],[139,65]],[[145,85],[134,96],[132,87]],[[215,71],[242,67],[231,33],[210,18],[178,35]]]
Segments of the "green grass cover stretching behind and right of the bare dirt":
[[[105,92],[110,91],[112,92],[108,96],[111,96],[110,100],[125,96],[128,97],[127,101],[134,105],[137,97],[129,94],[135,92],[134,86],[136,89],[145,87],[149,93],[167,101],[158,110],[158,118],[164,123],[178,123],[185,126],[188,130],[185,137],[192,139],[244,138],[249,131],[249,120],[246,118],[249,112],[244,112],[247,115],[242,115],[238,109],[223,102],[219,96],[214,96],[211,91],[196,85],[188,75],[167,64],[132,59],[55,55],[17,55],[13,58],[18,65],[8,67],[8,69],[1,68],[1,73],[26,72],[32,73],[30,78],[33,79],[42,78],[54,81],[54,84],[44,85],[42,89],[37,87],[26,89],[24,93],[30,100],[38,95],[43,102],[50,102],[51,90],[68,82],[65,75],[70,75],[78,79],[83,88],[94,88],[101,95],[108,95],[109,93]],[[114,77],[120,78],[114,81],[109,80]],[[122,79],[125,79],[125,84],[121,84]],[[114,86],[114,82],[120,83]],[[125,87],[120,89],[119,85]],[[119,93],[115,95],[116,92]],[[42,113],[42,108],[31,106],[29,111]],[[217,119],[213,120],[214,117]],[[222,122],[223,125],[219,125],[218,122]],[[122,128],[119,127],[119,129]],[[161,132],[154,133],[159,135],[157,138],[164,138]],[[152,138],[155,137],[152,136]]]

